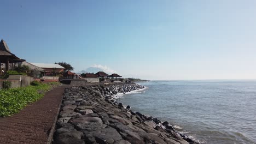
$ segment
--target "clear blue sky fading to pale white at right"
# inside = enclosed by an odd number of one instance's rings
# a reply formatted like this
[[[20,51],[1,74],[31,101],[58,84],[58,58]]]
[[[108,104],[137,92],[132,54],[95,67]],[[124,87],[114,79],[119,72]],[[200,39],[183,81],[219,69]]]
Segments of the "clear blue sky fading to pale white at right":
[[[256,1],[1,0],[0,39],[34,63],[148,80],[256,79]]]

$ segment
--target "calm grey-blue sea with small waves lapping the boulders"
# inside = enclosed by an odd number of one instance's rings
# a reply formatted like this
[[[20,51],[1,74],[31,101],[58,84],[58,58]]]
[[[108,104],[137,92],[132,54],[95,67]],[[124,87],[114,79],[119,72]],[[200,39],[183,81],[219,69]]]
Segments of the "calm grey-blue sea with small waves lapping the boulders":
[[[205,143],[256,143],[256,80],[140,82],[119,103]]]

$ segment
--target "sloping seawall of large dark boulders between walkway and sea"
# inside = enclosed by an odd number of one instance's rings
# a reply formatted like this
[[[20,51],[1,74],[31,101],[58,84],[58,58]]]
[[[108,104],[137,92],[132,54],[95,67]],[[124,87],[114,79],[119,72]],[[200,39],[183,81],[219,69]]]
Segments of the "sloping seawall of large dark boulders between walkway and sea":
[[[114,95],[144,88],[136,83],[67,87],[53,143],[199,143],[168,122],[130,110]]]

